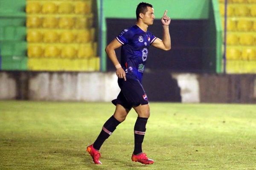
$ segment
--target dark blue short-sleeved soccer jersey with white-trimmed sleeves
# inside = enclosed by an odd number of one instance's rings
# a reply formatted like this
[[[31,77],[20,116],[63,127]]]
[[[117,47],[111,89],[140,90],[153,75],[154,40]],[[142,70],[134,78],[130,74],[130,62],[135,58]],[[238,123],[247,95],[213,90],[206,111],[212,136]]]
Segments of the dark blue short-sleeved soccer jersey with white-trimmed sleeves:
[[[142,82],[149,46],[155,37],[149,31],[143,31],[137,25],[124,29],[116,39],[122,44],[121,66],[126,77],[135,77]]]

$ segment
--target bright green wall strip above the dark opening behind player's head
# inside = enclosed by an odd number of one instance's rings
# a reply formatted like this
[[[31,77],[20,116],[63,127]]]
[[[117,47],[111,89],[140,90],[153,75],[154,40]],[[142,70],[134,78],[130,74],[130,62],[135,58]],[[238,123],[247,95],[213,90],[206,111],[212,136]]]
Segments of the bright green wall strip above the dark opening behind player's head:
[[[135,10],[142,0],[103,0],[106,18],[136,18]],[[144,2],[144,1],[143,1]],[[171,19],[207,19],[209,0],[145,0],[154,7],[160,19],[168,10]]]

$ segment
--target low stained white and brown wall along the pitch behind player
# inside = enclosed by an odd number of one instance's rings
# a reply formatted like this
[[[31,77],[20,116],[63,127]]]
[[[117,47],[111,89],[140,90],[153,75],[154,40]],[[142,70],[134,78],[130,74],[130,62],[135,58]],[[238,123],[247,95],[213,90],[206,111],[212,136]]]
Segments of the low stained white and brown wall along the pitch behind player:
[[[256,74],[147,72],[143,85],[151,102],[256,103]],[[118,93],[114,72],[0,72],[0,99],[110,102]]]

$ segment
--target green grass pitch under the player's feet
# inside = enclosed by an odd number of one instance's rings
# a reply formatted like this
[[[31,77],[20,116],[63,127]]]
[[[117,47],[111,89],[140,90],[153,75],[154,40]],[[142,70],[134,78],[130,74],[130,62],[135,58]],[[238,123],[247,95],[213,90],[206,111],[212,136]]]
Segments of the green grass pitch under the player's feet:
[[[256,170],[256,105],[154,103],[143,150],[131,161],[131,111],[101,148],[85,152],[112,115],[111,103],[0,101],[1,170]]]

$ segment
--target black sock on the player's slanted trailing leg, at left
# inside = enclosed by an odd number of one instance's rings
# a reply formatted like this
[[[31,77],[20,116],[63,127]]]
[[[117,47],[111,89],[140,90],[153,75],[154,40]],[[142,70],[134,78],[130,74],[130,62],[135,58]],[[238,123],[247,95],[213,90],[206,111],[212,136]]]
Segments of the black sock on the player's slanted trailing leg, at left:
[[[105,142],[106,139],[113,133],[113,131],[116,129],[116,126],[118,126],[120,122],[114,118],[114,116],[111,116],[107,122],[102,127],[102,131],[99,133],[98,138],[93,143],[93,147],[96,150],[99,150],[102,144]]]

